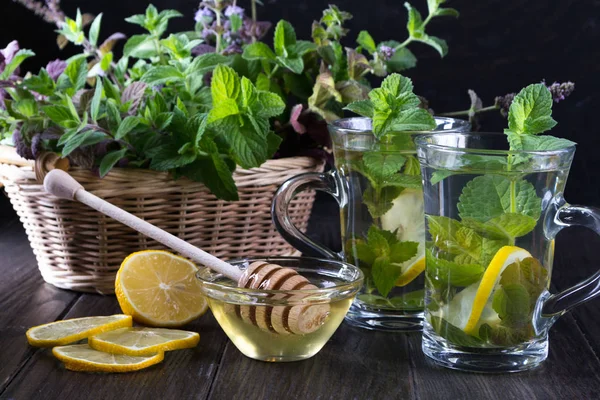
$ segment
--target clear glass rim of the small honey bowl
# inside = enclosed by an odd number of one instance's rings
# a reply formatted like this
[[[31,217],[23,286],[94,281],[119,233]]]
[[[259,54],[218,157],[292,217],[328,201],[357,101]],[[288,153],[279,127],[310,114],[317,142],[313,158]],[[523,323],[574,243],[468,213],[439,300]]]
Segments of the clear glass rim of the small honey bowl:
[[[317,289],[295,289],[295,290],[265,290],[265,289],[248,289],[248,288],[241,288],[237,286],[237,282],[234,282],[233,280],[230,280],[231,283],[233,284],[223,284],[223,283],[218,283],[218,282],[214,282],[211,281],[209,279],[207,279],[205,276],[210,274],[209,276],[212,277],[212,279],[217,279],[220,276],[223,276],[222,274],[218,273],[218,272],[214,272],[212,271],[210,268],[208,267],[204,267],[204,268],[200,268],[198,269],[198,272],[196,272],[196,278],[198,280],[200,280],[202,286],[206,286],[209,289],[213,289],[219,292],[226,292],[226,293],[236,293],[236,294],[243,294],[243,295],[258,295],[258,296],[270,296],[270,295],[276,295],[276,294],[288,294],[288,295],[294,295],[294,294],[303,294],[303,295],[323,295],[323,294],[331,294],[331,293],[336,293],[336,292],[345,292],[347,290],[352,290],[354,288],[356,288],[356,290],[358,290],[360,288],[360,286],[362,285],[362,282],[364,280],[364,274],[361,271],[360,268],[358,268],[355,265],[352,265],[350,263],[347,263],[345,261],[338,261],[338,260],[328,260],[328,259],[324,259],[324,258],[317,258],[317,257],[246,257],[246,258],[236,258],[236,259],[232,259],[229,260],[228,262],[234,266],[240,265],[240,264],[244,264],[244,263],[252,263],[254,261],[266,261],[272,264],[277,264],[278,261],[296,261],[296,262],[300,262],[300,261],[310,261],[310,262],[315,262],[315,263],[321,263],[321,264],[327,264],[327,265],[336,265],[339,266],[340,269],[341,268],[349,268],[352,270],[353,273],[356,274],[356,278],[353,279],[352,281],[348,281],[348,282],[343,282],[343,283],[339,283],[339,284],[335,284],[333,286],[328,286],[325,288],[317,288]],[[292,268],[292,269],[306,269],[306,270],[311,270],[310,268],[302,268],[302,266],[283,266],[284,268]],[[318,273],[318,271],[312,270],[315,273]],[[229,279],[229,278],[227,278]],[[235,284],[235,286],[234,286]]]

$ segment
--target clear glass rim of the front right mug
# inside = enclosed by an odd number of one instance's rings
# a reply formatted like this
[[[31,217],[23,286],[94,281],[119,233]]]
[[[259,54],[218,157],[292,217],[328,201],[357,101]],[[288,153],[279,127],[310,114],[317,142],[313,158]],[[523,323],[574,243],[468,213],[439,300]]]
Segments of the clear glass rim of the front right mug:
[[[475,149],[470,147],[456,147],[452,145],[428,143],[427,140],[430,136],[467,136],[467,137],[506,137],[504,132],[432,132],[427,135],[419,135],[415,138],[415,144],[417,149],[433,149],[437,151],[443,151],[447,153],[459,153],[459,154],[481,154],[488,156],[509,156],[509,155],[523,155],[529,154],[537,157],[549,157],[549,156],[564,156],[573,153],[576,148],[576,144],[572,144],[567,147],[563,147],[556,150],[493,150],[493,149]],[[508,143],[508,141],[507,141]]]

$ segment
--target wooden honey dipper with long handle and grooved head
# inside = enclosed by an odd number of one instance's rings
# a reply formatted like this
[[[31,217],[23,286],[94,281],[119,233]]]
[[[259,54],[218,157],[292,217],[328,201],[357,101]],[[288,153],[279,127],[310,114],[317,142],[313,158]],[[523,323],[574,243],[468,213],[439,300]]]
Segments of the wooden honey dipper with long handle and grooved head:
[[[186,241],[136,217],[133,214],[103,200],[89,192],[71,175],[54,169],[44,178],[44,189],[61,199],[77,200],[96,211],[107,215],[130,228],[151,237],[198,264],[225,275],[236,281],[238,286],[259,290],[310,290],[317,289],[308,279],[291,268],[284,268],[267,262],[254,262],[245,271],[193,246]],[[273,294],[273,298],[283,299],[285,294]],[[301,294],[293,295],[292,300],[302,301]],[[236,313],[245,322],[265,331],[280,334],[307,334],[316,331],[329,315],[329,304],[294,306],[236,306]]]

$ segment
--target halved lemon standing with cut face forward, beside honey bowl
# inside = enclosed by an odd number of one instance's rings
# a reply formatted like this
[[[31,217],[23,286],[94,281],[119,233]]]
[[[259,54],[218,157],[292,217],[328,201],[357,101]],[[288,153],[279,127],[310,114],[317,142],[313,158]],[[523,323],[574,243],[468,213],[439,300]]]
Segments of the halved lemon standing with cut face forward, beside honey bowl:
[[[121,310],[145,325],[185,325],[208,309],[196,272],[193,263],[166,251],[129,255],[115,280]]]

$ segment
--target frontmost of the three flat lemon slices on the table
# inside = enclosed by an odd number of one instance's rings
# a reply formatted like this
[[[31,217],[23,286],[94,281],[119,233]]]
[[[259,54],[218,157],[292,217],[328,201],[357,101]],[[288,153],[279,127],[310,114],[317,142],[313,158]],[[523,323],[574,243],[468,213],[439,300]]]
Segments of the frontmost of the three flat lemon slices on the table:
[[[110,354],[94,350],[87,344],[55,347],[52,354],[64,362],[67,369],[86,372],[137,371],[158,364],[165,357],[163,352],[147,357]]]

